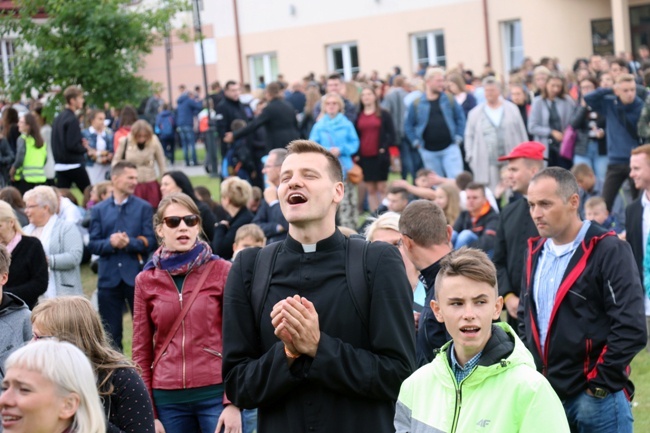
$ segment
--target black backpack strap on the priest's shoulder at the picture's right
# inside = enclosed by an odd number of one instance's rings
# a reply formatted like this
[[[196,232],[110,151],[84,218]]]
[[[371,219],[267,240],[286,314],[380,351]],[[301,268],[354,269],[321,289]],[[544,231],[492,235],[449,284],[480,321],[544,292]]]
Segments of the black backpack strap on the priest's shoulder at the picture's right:
[[[347,242],[345,275],[354,308],[357,310],[366,331],[370,332],[370,285],[366,274],[366,251],[368,241],[362,236],[352,235]],[[361,259],[361,260],[359,260]]]

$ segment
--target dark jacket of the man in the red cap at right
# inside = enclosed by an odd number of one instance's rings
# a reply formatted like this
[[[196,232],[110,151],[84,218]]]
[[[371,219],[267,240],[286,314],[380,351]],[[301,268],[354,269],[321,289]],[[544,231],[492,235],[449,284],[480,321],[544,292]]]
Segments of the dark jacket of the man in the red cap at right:
[[[513,293],[519,296],[528,239],[535,236],[538,236],[537,227],[530,217],[525,198],[519,198],[503,209],[499,215],[492,259],[497,268],[499,295]]]

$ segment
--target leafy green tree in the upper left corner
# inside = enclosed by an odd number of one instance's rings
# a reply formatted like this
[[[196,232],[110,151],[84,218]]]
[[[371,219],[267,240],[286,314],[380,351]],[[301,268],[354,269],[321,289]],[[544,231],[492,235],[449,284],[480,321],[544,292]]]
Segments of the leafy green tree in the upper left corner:
[[[121,105],[150,94],[153,82],[137,75],[185,0],[151,7],[132,0],[14,0],[17,13],[0,18],[0,32],[17,35],[12,98],[31,89],[80,85],[90,105]],[[162,78],[162,77],[161,77]],[[161,79],[162,81],[162,79]],[[59,95],[55,105],[62,102]]]

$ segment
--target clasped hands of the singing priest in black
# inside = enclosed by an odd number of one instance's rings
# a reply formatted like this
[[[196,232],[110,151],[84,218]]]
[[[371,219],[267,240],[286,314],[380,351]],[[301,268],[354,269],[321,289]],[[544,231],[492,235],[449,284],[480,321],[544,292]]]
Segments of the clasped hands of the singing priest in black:
[[[307,298],[294,295],[275,304],[271,323],[286,351],[293,355],[316,356],[320,342],[318,313]]]

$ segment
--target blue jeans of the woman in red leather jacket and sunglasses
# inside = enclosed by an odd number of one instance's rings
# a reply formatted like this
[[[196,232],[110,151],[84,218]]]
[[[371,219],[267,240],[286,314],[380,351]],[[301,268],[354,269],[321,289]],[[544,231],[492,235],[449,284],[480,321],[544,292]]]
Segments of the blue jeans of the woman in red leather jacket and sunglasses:
[[[156,410],[165,433],[215,433],[223,412],[223,398],[215,397],[197,403],[157,404]]]

